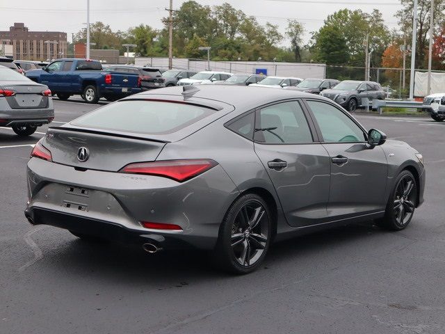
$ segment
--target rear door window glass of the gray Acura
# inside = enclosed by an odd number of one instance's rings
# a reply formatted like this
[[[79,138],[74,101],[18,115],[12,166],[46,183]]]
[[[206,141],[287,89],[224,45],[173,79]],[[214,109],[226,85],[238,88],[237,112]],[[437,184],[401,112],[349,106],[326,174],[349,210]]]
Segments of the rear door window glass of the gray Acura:
[[[312,143],[312,133],[298,102],[283,102],[257,111],[254,140],[266,144]]]

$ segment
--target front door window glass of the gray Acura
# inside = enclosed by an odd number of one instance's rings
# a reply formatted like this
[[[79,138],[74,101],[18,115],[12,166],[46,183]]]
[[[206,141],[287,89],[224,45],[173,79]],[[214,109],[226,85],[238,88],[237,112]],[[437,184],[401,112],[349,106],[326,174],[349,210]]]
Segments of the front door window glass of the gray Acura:
[[[325,102],[307,101],[307,104],[326,143],[365,141],[362,129],[340,109]]]

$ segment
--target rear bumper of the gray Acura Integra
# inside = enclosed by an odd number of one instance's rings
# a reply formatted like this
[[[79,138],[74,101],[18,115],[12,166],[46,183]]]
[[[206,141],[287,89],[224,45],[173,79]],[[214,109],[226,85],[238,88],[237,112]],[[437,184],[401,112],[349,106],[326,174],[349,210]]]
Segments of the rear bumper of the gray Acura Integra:
[[[238,196],[220,166],[179,183],[165,177],[79,171],[31,158],[27,174],[25,216],[34,225],[116,241],[156,241],[163,248],[213,248],[225,212]],[[147,229],[141,221],[171,223],[182,230]]]

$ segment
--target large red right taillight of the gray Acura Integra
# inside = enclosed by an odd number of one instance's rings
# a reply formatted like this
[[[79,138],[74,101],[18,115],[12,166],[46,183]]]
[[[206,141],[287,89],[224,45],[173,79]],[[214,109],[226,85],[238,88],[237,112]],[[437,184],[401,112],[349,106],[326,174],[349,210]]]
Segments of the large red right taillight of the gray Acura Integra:
[[[165,160],[129,164],[120,173],[168,177],[177,182],[190,180],[213,168],[218,163],[210,159]]]

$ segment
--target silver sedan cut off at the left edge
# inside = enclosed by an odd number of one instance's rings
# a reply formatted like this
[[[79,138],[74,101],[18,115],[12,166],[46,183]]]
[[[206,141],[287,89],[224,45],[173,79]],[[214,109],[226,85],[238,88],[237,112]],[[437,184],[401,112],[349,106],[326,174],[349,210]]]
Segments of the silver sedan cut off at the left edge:
[[[12,127],[19,136],[30,136],[37,127],[53,119],[48,86],[0,66],[0,127]]]

